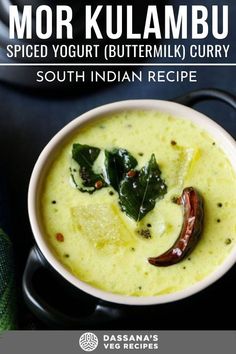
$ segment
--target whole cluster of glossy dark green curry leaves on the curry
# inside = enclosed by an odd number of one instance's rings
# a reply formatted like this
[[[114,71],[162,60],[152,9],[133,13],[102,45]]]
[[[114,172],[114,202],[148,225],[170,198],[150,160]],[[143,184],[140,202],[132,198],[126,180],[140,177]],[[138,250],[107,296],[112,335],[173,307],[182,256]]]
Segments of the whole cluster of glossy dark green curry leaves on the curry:
[[[104,153],[104,161],[98,173],[94,166],[100,153]],[[74,144],[72,159],[78,168],[70,168],[71,177],[80,191],[93,193],[103,187],[113,187],[119,195],[121,210],[137,222],[167,192],[154,154],[140,170],[136,169],[135,157],[125,149],[101,151],[97,147]]]

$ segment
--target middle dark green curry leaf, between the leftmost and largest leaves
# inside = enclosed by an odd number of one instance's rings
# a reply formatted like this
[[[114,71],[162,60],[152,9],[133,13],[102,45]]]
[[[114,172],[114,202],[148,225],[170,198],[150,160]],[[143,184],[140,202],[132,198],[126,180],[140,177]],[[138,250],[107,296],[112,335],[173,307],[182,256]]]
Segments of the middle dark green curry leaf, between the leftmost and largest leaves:
[[[137,166],[137,160],[125,149],[105,151],[106,180],[117,192],[125,173]]]

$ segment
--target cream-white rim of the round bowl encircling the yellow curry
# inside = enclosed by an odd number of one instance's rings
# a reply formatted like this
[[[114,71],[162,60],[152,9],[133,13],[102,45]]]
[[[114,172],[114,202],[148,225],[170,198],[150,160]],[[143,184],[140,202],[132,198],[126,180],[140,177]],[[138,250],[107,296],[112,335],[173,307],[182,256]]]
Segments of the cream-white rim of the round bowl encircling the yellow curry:
[[[123,304],[123,305],[156,305],[168,302],[174,302],[177,300],[184,299],[191,295],[198,293],[199,291],[205,289],[219,278],[221,278],[236,262],[236,247],[234,247],[229,253],[228,257],[225,258],[223,263],[221,263],[215,271],[207,275],[203,280],[190,285],[189,287],[182,289],[180,291],[165,294],[165,295],[155,295],[155,296],[130,296],[130,295],[120,295],[111,292],[107,292],[105,290],[101,290],[96,288],[79,278],[75,277],[65,266],[60,263],[60,261],[54,256],[53,252],[50,250],[47,242],[45,241],[42,231],[40,229],[40,222],[37,217],[38,212],[38,186],[41,178],[41,171],[43,171],[44,166],[46,166],[46,162],[49,160],[49,157],[53,155],[54,151],[57,149],[59,142],[68,138],[73,132],[78,129],[84,123],[87,123],[90,120],[99,118],[103,115],[109,115],[116,111],[124,111],[124,110],[149,110],[149,111],[159,111],[166,112],[170,115],[174,115],[176,118],[192,121],[193,123],[200,126],[203,130],[207,131],[212,137],[214,137],[219,145],[221,146],[223,143],[226,144],[227,151],[224,147],[224,152],[227,157],[231,156],[231,164],[233,165],[234,170],[236,171],[236,157],[234,164],[232,163],[233,156],[236,154],[236,142],[231,137],[229,133],[227,133],[219,124],[217,124],[212,119],[208,118],[206,115],[184,106],[182,104],[166,101],[166,100],[125,100],[118,101],[109,104],[105,104],[89,110],[86,113],[78,116],[73,119],[69,124],[65,125],[45,146],[43,151],[41,152],[38,160],[34,166],[30,183],[28,189],[28,214],[29,220],[31,224],[31,229],[34,235],[34,239],[36,241],[37,246],[41,250],[43,256],[46,258],[48,263],[53,267],[55,271],[57,271],[64,279],[66,279],[69,283],[74,285],[79,290],[88,293],[94,297],[99,299]]]

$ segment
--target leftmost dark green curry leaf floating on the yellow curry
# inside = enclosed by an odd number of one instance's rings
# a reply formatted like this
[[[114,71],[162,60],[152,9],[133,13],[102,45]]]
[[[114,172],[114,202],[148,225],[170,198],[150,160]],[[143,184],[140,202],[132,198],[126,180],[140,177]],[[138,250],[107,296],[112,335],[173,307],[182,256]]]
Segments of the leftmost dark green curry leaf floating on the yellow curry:
[[[102,186],[105,186],[103,176],[93,171],[100,151],[99,148],[89,145],[73,145],[72,159],[79,165],[79,175],[76,169],[71,168],[71,177],[76,187],[82,192],[93,193],[97,189],[97,182],[102,182]]]

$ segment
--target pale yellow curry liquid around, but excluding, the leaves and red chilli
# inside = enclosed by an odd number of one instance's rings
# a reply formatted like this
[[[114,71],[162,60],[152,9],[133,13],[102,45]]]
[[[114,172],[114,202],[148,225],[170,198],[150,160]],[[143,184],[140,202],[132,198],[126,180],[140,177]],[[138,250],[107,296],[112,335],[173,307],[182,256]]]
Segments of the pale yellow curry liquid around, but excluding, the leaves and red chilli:
[[[122,210],[112,186],[81,192],[72,178],[72,146],[77,143],[101,151],[126,149],[136,169],[154,154],[164,195],[135,220]],[[173,201],[190,186],[204,199],[200,240],[181,262],[153,266],[148,258],[169,249],[180,233],[183,212]],[[133,296],[174,293],[216,270],[235,245],[235,210],[235,172],[217,142],[193,123],[155,111],[124,111],[80,127],[58,151],[41,197],[47,242],[60,262],[86,283]]]

